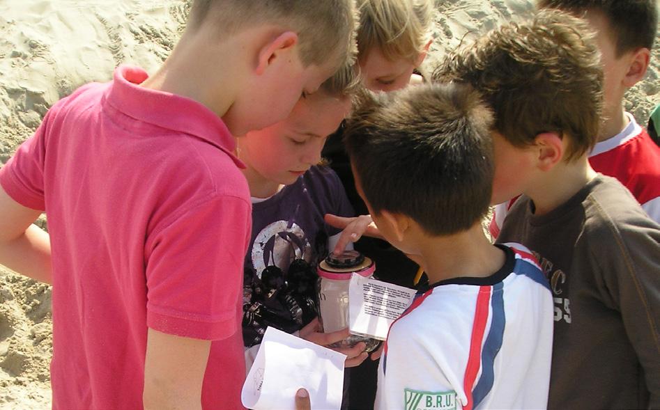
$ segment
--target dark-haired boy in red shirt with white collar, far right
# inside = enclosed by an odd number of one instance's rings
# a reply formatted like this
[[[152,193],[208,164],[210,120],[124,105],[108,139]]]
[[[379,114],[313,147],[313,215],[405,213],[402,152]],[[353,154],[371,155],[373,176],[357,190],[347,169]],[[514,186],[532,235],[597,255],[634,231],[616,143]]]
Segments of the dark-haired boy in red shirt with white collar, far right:
[[[658,29],[657,0],[539,0],[539,8],[584,17],[596,32],[604,70],[604,107],[598,139],[589,154],[594,171],[616,178],[660,223],[660,148],[631,113],[626,91],[644,78]],[[496,207],[497,236],[510,204]]]

